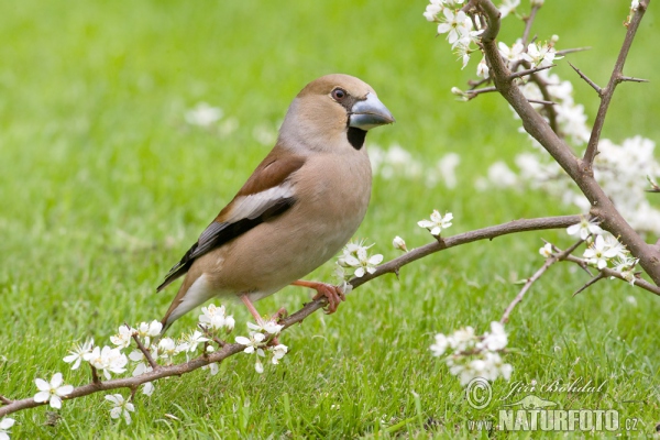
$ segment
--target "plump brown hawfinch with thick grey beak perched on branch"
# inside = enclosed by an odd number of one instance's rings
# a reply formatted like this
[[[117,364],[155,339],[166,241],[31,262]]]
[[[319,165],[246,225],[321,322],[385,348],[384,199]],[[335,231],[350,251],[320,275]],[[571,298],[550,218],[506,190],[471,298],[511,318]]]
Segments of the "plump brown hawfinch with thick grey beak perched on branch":
[[[374,89],[344,74],[302,88],[273,150],[235,197],[156,288],[185,275],[162,319],[163,332],[213,297],[239,297],[257,322],[257,301],[285,286],[315,289],[326,312],[345,297],[340,287],[300,278],[336,255],[361,224],[372,169],[365,136],[394,123]]]

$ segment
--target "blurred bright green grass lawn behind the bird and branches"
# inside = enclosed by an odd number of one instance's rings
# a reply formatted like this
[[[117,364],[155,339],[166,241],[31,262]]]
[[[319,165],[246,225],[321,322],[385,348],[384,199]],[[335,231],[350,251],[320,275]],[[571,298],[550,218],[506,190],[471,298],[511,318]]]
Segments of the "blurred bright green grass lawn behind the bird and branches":
[[[525,3],[525,2],[524,2]],[[591,46],[570,59],[604,85],[618,53],[628,1],[547,1],[535,32],[559,34],[559,47]],[[455,216],[453,234],[521,218],[574,213],[542,193],[477,193],[476,176],[496,160],[528,148],[496,95],[457,102],[461,70],[421,13],[426,3],[334,1],[6,1],[0,4],[0,394],[23,398],[35,377],[61,371],[84,384],[88,371],[62,361],[72,342],[109,343],[122,322],[160,319],[175,294],[155,286],[260,162],[270,146],[255,130],[276,130],[308,81],[348,73],[370,82],[397,118],[367,142],[398,143],[432,164],[461,154],[459,185],[375,178],[359,237],[385,257],[391,242],[429,242],[416,221],[433,209]],[[524,4],[522,10],[527,9]],[[660,74],[656,2],[645,18],[604,135],[658,140]],[[507,19],[509,44],[522,24]],[[597,99],[565,62],[576,99],[593,121]],[[199,101],[221,107],[239,128],[219,136],[184,123]],[[641,176],[640,176],[641,177]],[[139,395],[133,424],[109,417],[101,394],[65,402],[55,426],[48,408],[15,414],[14,438],[352,438],[473,437],[477,411],[428,346],[436,332],[477,331],[499,319],[516,295],[513,280],[541,264],[541,238],[568,244],[562,231],[527,233],[443,252],[355,290],[338,314],[316,314],[282,337],[290,354],[254,372],[235,356],[209,377],[196,372],[161,381]],[[331,279],[327,264],[311,278]],[[586,280],[554,267],[507,326],[513,381],[606,382],[598,394],[539,394],[571,409],[617,409],[639,420],[632,435],[660,421],[658,298],[624,283]],[[632,305],[627,297],[634,296]],[[308,293],[286,288],[262,311],[296,310]],[[244,308],[229,304],[237,334]],[[193,328],[190,314],[173,334]],[[509,384],[494,384],[495,399]],[[415,393],[415,394],[414,394]],[[123,393],[124,396],[127,393]],[[418,397],[416,397],[416,395]],[[388,431],[386,431],[388,429]],[[494,432],[493,437],[507,437]],[[534,435],[530,435],[530,437]],[[563,437],[563,435],[558,435]],[[486,437],[485,433],[482,437]],[[524,437],[524,436],[522,436]]]

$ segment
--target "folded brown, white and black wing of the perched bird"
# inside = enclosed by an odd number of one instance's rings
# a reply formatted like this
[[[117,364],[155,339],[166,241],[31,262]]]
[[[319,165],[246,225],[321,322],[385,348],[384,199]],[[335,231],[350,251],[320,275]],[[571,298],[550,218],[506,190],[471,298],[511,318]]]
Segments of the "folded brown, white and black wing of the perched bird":
[[[175,264],[156,292],[184,275],[195,260],[248,232],[257,224],[277,217],[296,202],[290,176],[305,164],[305,158],[282,154],[275,147],[256,167],[233,200],[199,235],[197,243]]]

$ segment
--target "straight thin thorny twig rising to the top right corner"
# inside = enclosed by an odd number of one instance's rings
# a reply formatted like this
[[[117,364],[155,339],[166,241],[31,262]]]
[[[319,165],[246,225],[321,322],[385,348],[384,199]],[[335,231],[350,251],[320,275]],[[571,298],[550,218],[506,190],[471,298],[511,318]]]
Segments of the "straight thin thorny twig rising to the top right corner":
[[[639,7],[635,12],[635,15],[630,20],[628,24],[628,32],[626,32],[626,38],[624,40],[624,44],[622,45],[622,50],[619,52],[618,58],[616,59],[616,64],[614,65],[614,69],[612,70],[612,76],[609,77],[609,82],[602,90],[601,95],[601,106],[598,107],[598,113],[596,114],[596,119],[594,121],[594,128],[592,130],[592,134],[588,139],[588,144],[586,146],[586,151],[584,152],[583,161],[591,167],[594,162],[594,157],[596,157],[596,152],[598,150],[598,141],[601,140],[601,132],[603,131],[603,125],[605,124],[605,117],[607,116],[607,110],[609,108],[609,102],[612,101],[612,97],[614,96],[614,89],[616,86],[623,80],[631,80],[624,79],[629,77],[624,77],[624,64],[626,64],[626,57],[628,56],[628,52],[630,51],[630,46],[632,45],[632,40],[635,40],[635,34],[637,33],[637,29],[639,28],[639,23],[641,23],[641,19],[644,18],[644,13],[646,12],[649,2],[651,0],[641,0],[639,2]]]

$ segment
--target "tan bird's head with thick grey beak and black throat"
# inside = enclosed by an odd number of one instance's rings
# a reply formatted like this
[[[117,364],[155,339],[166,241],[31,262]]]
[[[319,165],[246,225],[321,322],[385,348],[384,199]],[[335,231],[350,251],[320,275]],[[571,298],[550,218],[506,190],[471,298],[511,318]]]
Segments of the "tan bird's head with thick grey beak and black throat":
[[[298,94],[279,139],[307,151],[360,150],[369,130],[394,121],[369,84],[333,74],[309,82]]]

